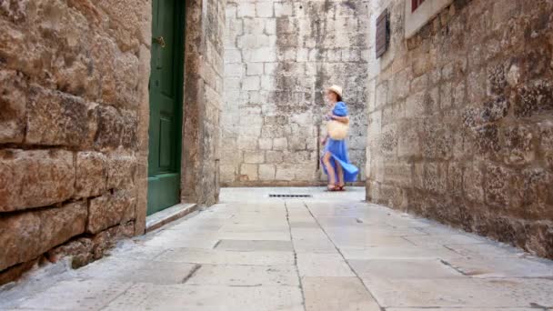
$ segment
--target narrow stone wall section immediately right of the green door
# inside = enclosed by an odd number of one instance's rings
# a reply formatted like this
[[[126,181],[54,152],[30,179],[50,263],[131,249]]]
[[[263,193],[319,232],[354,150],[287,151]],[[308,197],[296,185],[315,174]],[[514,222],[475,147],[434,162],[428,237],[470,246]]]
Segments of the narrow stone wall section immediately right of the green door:
[[[219,199],[225,0],[186,2],[182,201]]]

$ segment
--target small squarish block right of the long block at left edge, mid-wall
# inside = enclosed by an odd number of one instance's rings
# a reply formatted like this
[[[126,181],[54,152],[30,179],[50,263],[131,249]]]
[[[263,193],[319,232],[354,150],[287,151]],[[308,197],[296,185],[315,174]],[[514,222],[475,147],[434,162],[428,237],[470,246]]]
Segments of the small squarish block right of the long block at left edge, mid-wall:
[[[76,155],[76,196],[99,196],[106,190],[106,156],[97,152],[79,152]]]

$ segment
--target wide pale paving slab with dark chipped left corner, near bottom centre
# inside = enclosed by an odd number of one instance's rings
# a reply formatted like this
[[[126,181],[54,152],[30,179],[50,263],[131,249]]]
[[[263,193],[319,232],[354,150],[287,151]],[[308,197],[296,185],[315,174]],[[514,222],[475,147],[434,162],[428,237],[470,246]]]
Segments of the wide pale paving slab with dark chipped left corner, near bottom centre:
[[[295,266],[202,265],[186,285],[299,286]]]

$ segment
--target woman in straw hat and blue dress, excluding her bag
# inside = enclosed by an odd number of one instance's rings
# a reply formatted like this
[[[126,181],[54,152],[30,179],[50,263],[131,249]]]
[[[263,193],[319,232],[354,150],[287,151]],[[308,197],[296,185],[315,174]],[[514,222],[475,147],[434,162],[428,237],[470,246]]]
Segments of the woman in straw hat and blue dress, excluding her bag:
[[[327,100],[332,106],[327,119],[348,123],[347,105],[342,101],[342,88],[337,85],[329,87]],[[344,191],[346,183],[355,182],[359,173],[359,169],[349,163],[346,140],[334,140],[327,135],[322,143],[325,149],[321,162],[328,176],[328,191]]]

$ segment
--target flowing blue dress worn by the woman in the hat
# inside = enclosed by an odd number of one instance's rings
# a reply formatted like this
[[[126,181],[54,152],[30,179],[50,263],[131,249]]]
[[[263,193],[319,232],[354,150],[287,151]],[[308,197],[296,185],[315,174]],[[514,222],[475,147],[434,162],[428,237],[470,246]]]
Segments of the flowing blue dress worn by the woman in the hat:
[[[347,106],[344,102],[337,102],[334,106],[332,113],[337,116],[347,116]],[[349,156],[347,155],[347,145],[346,140],[334,140],[330,137],[327,139],[327,145],[325,145],[325,154],[330,153],[330,156],[334,161],[330,161],[331,165],[334,167],[334,172],[337,176],[337,166],[342,166],[344,171],[344,182],[355,182],[357,180],[357,174],[359,169],[349,163]],[[322,162],[322,158],[321,158]],[[325,173],[328,175],[327,167],[323,165]]]

